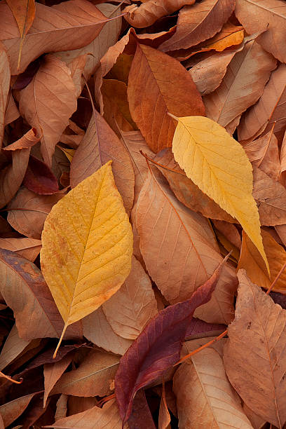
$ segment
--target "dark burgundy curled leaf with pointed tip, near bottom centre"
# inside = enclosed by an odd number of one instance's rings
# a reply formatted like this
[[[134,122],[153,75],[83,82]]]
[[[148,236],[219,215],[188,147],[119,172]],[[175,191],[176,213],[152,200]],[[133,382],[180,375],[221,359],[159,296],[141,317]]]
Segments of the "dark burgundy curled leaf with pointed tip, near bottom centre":
[[[166,369],[179,360],[193,312],[210,300],[222,264],[212,277],[194,292],[191,299],[169,306],[151,319],[121,357],[115,376],[115,394],[123,423],[130,416],[137,391],[163,376]]]

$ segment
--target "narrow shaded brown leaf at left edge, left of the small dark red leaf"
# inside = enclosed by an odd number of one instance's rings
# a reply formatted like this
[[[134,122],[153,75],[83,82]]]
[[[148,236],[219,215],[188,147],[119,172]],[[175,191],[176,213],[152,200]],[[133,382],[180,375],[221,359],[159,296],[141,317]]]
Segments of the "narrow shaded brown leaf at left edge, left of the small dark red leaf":
[[[0,172],[0,208],[12,200],[25,177],[29,161],[30,149],[13,151],[12,163]]]

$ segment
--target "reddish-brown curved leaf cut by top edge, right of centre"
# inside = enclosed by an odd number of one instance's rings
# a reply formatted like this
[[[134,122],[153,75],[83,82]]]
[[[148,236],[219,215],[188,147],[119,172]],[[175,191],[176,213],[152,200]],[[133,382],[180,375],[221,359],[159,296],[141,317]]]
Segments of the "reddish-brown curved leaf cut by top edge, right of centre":
[[[160,46],[163,52],[189,48],[210,39],[224,25],[235,8],[234,0],[205,0],[185,6],[179,12],[177,30]]]

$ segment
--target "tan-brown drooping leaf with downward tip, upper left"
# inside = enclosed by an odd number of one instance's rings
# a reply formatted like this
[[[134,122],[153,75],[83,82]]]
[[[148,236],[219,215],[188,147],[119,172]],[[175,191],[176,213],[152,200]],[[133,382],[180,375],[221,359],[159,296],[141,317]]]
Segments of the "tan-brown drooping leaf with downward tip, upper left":
[[[29,85],[20,91],[19,109],[41,138],[43,160],[51,166],[55,145],[76,111],[76,88],[71,71],[47,55]]]

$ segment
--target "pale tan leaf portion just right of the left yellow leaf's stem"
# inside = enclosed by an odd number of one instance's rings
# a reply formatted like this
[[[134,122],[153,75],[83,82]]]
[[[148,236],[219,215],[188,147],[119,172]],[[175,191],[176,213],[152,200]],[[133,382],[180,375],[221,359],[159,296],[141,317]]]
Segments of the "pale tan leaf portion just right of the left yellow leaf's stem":
[[[83,319],[83,335],[97,346],[104,350],[124,355],[125,351],[132,344],[132,341],[116,335],[107,322],[102,307],[97,308],[90,315]]]

